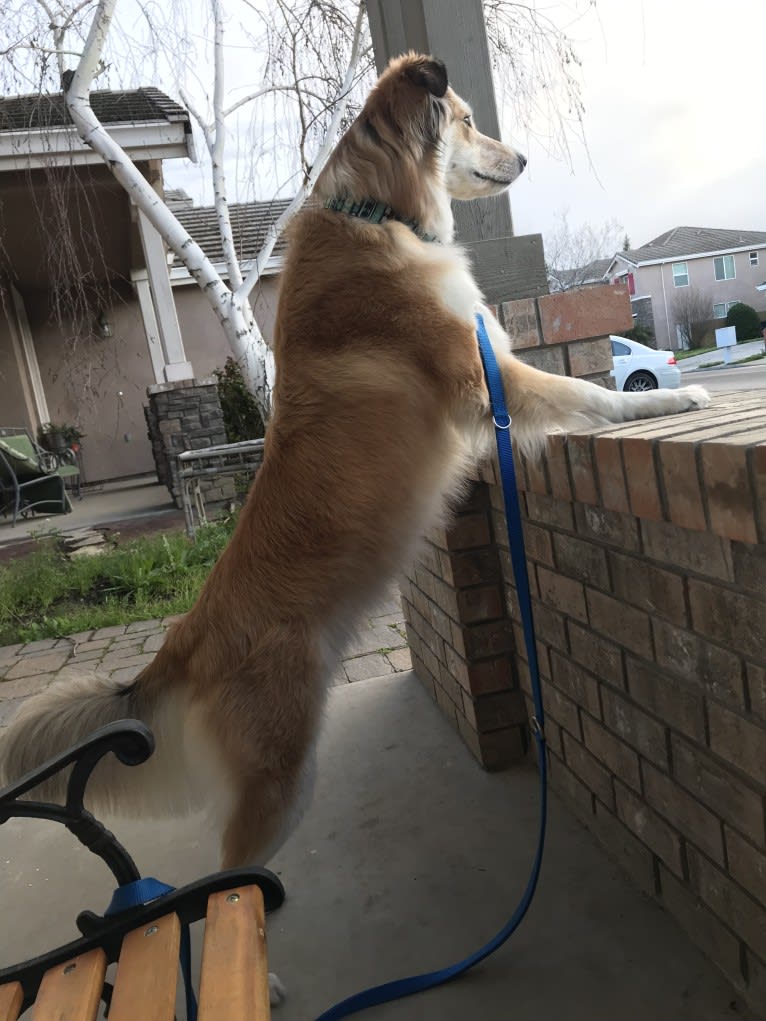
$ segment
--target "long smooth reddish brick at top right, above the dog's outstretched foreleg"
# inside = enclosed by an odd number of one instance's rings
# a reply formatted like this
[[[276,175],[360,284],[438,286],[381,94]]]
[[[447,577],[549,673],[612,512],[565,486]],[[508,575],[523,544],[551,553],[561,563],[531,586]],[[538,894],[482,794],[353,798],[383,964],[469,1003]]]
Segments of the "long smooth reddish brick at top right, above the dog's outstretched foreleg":
[[[627,288],[605,284],[544,294],[537,299],[542,339],[561,344],[588,337],[608,337],[632,327]]]

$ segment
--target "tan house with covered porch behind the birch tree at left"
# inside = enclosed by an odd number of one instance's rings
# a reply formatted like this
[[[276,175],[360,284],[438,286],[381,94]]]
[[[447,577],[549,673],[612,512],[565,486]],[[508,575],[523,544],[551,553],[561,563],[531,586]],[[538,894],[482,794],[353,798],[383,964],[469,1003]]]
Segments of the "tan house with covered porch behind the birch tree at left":
[[[186,110],[157,89],[94,92],[93,108],[162,194],[164,159],[194,158]],[[179,220],[225,276],[212,208]],[[286,201],[232,206],[237,250],[261,246]],[[280,247],[253,291],[267,339]],[[152,473],[146,388],[204,378],[230,353],[185,266],[82,145],[61,94],[0,100],[0,425],[77,425],[95,482]]]

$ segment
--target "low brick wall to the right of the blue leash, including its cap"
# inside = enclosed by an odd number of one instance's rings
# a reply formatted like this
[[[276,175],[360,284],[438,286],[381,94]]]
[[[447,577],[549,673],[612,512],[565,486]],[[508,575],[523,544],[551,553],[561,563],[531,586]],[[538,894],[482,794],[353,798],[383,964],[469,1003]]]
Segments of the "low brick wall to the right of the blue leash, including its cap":
[[[552,782],[762,1011],[765,398],[557,437],[522,473]]]

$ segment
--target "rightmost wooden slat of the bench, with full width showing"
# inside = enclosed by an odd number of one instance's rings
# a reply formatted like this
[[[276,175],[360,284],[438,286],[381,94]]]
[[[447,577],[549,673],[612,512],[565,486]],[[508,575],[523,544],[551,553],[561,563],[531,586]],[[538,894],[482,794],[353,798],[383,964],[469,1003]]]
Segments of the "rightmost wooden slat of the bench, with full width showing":
[[[269,1021],[271,1016],[264,894],[257,886],[212,893],[198,1021]]]

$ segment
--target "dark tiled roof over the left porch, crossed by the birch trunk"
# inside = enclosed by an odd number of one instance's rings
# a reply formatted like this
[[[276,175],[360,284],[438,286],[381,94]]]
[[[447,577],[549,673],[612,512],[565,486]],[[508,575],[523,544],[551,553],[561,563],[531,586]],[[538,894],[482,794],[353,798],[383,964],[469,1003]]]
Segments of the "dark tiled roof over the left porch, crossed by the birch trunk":
[[[91,106],[101,124],[106,125],[189,119],[183,106],[153,86],[128,92],[92,92]],[[71,123],[62,92],[0,98],[0,132],[68,127]]]

